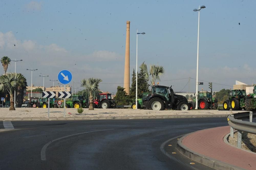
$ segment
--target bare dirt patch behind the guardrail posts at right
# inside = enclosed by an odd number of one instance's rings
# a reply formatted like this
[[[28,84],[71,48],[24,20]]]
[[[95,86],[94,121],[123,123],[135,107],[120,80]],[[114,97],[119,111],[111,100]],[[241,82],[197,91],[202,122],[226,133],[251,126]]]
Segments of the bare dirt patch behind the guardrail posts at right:
[[[228,138],[228,142],[237,146],[237,132],[234,132],[234,138]],[[249,150],[256,153],[256,135],[242,132],[242,149]]]

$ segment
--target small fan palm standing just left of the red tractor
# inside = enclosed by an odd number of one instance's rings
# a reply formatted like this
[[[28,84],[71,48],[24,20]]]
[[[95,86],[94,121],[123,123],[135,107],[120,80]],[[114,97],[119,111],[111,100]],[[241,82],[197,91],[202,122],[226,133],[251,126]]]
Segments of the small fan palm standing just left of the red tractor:
[[[92,92],[99,91],[99,83],[102,82],[100,78],[88,78],[81,80],[81,87],[85,88],[85,91],[88,91],[90,94],[90,105],[89,110],[94,110],[93,101],[92,101]]]

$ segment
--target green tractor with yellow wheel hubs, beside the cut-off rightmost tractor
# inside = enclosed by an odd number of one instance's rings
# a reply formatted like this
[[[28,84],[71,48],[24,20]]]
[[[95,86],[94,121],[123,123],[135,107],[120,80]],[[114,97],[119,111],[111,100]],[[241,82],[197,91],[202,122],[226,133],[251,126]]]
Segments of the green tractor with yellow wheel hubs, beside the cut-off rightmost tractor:
[[[223,102],[223,110],[246,110],[245,97],[245,90],[231,90],[229,99]]]

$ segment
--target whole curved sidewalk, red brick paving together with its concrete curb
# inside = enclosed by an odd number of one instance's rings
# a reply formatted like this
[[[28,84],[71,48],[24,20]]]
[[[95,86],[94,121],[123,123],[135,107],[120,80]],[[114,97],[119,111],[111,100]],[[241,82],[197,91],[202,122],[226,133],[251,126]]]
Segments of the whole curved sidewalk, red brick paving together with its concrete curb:
[[[256,169],[256,153],[238,149],[224,142],[230,126],[204,129],[179,139],[178,150],[191,158],[218,170]]]

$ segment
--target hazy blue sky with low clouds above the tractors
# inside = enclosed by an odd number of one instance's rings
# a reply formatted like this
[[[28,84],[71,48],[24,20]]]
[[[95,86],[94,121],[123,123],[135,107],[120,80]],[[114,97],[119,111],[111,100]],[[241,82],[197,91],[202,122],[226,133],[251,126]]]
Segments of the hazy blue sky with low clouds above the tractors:
[[[0,54],[23,60],[16,70],[28,84],[31,72],[26,69],[38,69],[35,85],[42,85],[39,75],[56,80],[66,69],[74,82],[98,77],[101,90],[115,93],[123,85],[130,20],[131,73],[137,28],[146,33],[138,36],[138,64],[162,65],[161,85],[194,92],[194,79],[173,79],[196,78],[198,12],[193,9],[199,5],[206,6],[200,12],[198,76],[205,85],[199,89],[209,90],[207,81],[214,82],[214,91],[231,88],[236,80],[256,83],[256,1],[1,1]],[[14,63],[8,71],[14,72]],[[52,82],[46,78],[45,85]]]

